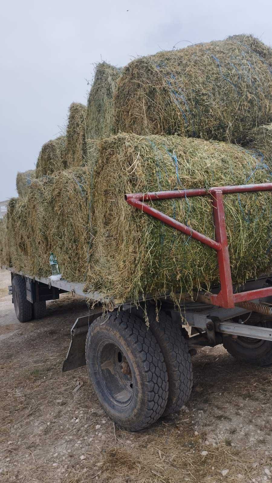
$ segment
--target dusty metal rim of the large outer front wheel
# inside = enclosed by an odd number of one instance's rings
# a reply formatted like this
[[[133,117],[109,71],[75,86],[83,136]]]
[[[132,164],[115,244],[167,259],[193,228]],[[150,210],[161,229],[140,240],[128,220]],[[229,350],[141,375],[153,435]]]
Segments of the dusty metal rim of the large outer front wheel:
[[[134,395],[134,377],[125,351],[111,340],[100,342],[96,369],[108,398],[117,406],[128,406]]]

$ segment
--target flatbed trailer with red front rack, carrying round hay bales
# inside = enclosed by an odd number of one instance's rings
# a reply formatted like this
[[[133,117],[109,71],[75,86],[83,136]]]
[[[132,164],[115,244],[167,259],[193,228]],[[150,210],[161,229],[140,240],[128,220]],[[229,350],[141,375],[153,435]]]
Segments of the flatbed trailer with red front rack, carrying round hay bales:
[[[263,274],[242,286],[232,283],[224,212],[224,194],[259,191],[272,191],[272,183],[125,195],[135,209],[217,253],[220,284],[210,292],[177,294],[178,307],[170,294],[156,300],[146,295],[136,304],[86,293],[84,284],[8,268],[9,292],[20,322],[43,317],[46,300],[63,292],[95,302],[72,326],[63,371],[86,365],[101,406],[118,426],[138,431],[162,415],[179,411],[191,393],[191,357],[199,347],[223,344],[240,361],[272,364],[272,276]],[[193,196],[211,197],[215,240],[147,204]]]

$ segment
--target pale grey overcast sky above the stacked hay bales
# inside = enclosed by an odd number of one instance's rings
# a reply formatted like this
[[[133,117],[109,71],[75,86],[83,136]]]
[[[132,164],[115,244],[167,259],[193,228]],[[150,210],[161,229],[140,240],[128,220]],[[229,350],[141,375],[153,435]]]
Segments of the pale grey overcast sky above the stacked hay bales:
[[[252,33],[272,44],[272,0],[10,0],[0,11],[0,201],[17,171],[33,169],[72,101],[86,103],[101,59]]]

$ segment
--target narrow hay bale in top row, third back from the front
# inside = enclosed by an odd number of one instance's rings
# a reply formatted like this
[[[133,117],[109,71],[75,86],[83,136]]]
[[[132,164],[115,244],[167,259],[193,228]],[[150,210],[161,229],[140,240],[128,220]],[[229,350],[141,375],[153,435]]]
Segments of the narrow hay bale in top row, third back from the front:
[[[72,102],[66,129],[67,167],[81,166],[86,160],[86,112],[87,107],[79,102]]]

